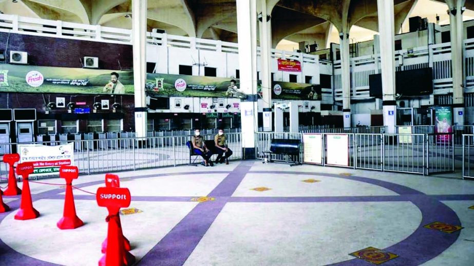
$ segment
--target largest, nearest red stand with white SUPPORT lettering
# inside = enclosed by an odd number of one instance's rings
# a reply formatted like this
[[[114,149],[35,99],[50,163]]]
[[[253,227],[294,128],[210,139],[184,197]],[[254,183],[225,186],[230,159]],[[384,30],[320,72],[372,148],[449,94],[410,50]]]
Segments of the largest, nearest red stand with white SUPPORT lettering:
[[[119,223],[119,211],[130,206],[130,191],[126,188],[101,187],[97,189],[97,204],[107,207],[107,251],[99,260],[99,266],[122,266],[135,263],[133,255],[126,255],[123,245],[122,228]]]

